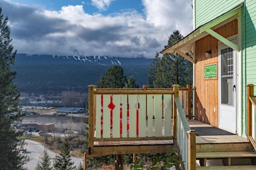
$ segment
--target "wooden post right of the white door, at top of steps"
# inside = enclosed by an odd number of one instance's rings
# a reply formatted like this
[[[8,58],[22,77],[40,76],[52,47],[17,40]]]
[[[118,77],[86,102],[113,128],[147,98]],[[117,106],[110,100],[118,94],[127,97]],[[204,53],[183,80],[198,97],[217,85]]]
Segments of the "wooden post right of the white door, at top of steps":
[[[252,102],[250,96],[254,96],[254,85],[247,85],[247,141],[250,141],[249,137],[252,135]]]

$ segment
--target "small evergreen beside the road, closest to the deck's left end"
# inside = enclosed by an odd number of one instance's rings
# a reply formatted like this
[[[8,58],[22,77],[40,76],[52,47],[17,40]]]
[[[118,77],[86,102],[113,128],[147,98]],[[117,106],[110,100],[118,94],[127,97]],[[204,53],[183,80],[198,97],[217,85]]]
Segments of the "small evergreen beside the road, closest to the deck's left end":
[[[55,156],[55,160],[53,163],[54,170],[69,170],[76,168],[76,166],[73,166],[74,162],[71,161],[70,151],[71,148],[67,140],[65,139],[65,141],[61,145],[60,155]]]

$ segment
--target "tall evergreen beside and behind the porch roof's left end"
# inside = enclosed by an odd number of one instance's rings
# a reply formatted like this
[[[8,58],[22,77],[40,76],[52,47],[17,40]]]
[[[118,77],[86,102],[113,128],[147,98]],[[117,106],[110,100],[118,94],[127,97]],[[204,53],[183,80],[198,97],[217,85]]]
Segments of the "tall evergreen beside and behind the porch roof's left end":
[[[179,30],[174,30],[164,48],[182,38]],[[148,71],[149,85],[153,84],[155,88],[170,88],[173,84],[185,87],[192,83],[192,69],[193,65],[179,54],[164,54],[161,59],[156,55]]]

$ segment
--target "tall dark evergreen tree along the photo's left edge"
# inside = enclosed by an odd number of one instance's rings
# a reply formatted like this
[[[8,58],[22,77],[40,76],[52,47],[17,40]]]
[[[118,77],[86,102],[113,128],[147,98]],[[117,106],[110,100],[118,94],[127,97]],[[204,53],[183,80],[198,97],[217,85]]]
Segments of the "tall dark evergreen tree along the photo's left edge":
[[[16,51],[13,51],[8,18],[0,8],[0,169],[25,169],[27,155],[22,153],[24,142],[18,139],[21,132],[16,132],[12,124],[21,120],[18,101],[19,91],[13,84],[16,75],[10,67],[14,64]]]

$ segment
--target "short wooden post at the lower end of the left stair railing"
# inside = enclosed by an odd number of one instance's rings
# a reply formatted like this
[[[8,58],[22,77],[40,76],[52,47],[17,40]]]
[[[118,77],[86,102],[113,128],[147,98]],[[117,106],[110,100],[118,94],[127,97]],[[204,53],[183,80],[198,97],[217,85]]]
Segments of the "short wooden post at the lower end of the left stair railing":
[[[188,133],[188,170],[196,170],[196,131]]]

